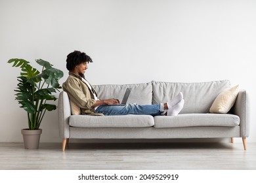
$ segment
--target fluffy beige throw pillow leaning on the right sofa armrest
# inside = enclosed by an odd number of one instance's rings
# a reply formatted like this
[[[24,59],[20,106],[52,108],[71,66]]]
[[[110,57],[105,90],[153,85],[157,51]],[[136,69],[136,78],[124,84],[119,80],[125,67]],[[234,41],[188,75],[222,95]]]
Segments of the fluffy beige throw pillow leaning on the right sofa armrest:
[[[239,90],[239,85],[236,85],[233,88],[226,88],[223,92],[219,93],[211,105],[210,112],[227,113],[233,107]]]

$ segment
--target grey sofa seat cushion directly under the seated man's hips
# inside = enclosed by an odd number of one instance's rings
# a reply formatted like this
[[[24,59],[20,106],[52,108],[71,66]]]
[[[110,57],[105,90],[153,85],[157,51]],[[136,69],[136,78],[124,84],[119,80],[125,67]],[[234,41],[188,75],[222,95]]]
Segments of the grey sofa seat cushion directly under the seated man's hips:
[[[150,127],[154,125],[154,118],[150,115],[72,115],[69,123],[73,127]]]

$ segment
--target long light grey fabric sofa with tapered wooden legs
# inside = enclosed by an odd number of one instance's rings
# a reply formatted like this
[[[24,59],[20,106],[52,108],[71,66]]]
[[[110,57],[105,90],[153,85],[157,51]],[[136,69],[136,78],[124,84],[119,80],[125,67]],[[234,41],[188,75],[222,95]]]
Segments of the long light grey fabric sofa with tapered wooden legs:
[[[209,112],[213,101],[225,88],[228,80],[213,82],[176,83],[148,82],[143,84],[96,85],[100,99],[120,99],[126,88],[132,88],[128,103],[140,105],[166,102],[180,91],[184,95],[184,108],[178,116],[87,116],[72,115],[66,92],[58,98],[58,123],[62,150],[69,139],[190,139],[242,137],[246,150],[249,136],[248,99],[240,90],[236,102],[226,114]]]

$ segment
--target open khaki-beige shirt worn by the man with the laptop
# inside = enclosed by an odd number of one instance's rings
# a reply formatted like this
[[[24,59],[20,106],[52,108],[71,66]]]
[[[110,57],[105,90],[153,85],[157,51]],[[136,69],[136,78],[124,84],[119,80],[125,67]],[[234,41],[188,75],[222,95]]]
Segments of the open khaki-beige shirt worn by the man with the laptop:
[[[103,114],[96,113],[95,108],[92,107],[96,103],[93,93],[97,96],[93,86],[90,90],[87,84],[82,81],[81,76],[71,72],[68,74],[69,76],[66,82],[62,84],[62,88],[68,93],[70,100],[81,108],[81,114],[102,116]]]

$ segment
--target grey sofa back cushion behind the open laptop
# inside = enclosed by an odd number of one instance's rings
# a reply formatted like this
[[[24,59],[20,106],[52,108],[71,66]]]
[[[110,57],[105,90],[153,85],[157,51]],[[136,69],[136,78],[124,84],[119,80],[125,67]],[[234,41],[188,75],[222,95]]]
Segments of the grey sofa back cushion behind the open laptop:
[[[120,103],[127,88],[132,88],[127,103],[139,105],[152,104],[152,83],[142,84],[105,84],[93,86],[100,99],[119,99]]]

